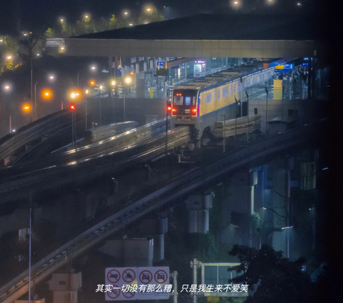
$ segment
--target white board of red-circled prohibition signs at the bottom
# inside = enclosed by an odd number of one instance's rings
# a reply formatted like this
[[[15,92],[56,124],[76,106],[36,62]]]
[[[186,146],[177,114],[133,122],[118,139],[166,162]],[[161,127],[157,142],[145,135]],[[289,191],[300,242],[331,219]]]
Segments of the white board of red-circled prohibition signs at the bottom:
[[[167,300],[171,289],[169,267],[108,267],[105,300]]]

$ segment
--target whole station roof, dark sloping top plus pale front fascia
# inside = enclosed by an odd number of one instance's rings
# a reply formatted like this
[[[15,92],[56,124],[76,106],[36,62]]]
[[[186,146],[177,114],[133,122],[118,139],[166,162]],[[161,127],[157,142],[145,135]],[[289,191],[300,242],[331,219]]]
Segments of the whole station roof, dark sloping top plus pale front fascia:
[[[66,38],[70,56],[325,58],[318,15],[202,14]]]

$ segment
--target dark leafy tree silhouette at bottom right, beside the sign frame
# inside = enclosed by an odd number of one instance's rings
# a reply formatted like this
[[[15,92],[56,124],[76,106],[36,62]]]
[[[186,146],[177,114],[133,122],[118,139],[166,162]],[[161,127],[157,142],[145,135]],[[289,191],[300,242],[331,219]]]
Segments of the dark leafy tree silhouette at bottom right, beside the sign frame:
[[[303,258],[292,262],[266,244],[260,250],[234,245],[229,255],[238,256],[241,264],[228,270],[244,272],[229,282],[248,284],[250,291],[257,287],[246,303],[312,302],[311,281],[302,271]]]

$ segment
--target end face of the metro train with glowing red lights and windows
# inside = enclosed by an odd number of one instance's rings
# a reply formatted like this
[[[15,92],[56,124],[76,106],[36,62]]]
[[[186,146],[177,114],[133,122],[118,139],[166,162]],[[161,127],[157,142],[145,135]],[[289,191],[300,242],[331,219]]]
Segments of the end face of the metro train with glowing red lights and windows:
[[[198,90],[176,88],[172,92],[171,127],[189,126],[194,137],[198,114]]]

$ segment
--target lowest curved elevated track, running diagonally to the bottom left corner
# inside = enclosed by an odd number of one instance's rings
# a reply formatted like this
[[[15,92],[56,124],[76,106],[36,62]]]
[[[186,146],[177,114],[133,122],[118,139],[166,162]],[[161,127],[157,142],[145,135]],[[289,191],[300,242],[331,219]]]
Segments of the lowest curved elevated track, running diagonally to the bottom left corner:
[[[325,132],[325,123],[307,125],[292,131],[270,136],[248,147],[234,150],[223,157],[204,163],[182,175],[172,178],[168,184],[141,197],[123,209],[114,212],[92,228],[79,234],[62,247],[44,257],[31,268],[31,287],[47,279],[50,274],[94,247],[109,235],[156,209],[168,209],[185,199],[194,190],[208,188],[220,181],[223,175],[232,173],[248,163],[255,163],[300,146],[314,146]],[[0,288],[2,303],[12,303],[28,291],[28,269]]]

